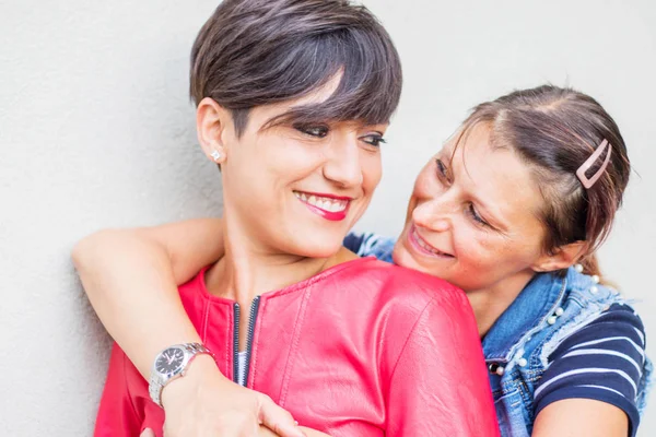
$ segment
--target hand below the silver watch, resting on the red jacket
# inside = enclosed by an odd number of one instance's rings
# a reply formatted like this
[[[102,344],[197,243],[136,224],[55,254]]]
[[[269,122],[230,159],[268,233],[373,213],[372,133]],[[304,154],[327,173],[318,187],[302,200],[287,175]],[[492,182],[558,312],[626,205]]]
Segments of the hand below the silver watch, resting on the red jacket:
[[[280,437],[304,437],[292,415],[269,397],[226,379],[207,355],[162,392],[166,437],[256,437],[260,424]]]

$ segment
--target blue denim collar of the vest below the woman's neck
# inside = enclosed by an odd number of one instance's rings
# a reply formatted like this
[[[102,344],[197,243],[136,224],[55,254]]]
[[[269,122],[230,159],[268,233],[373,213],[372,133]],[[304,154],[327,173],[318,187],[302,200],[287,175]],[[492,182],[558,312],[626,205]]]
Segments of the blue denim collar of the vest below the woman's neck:
[[[483,338],[485,361],[507,362],[513,347],[555,311],[563,299],[565,285],[565,277],[553,273],[536,274]]]

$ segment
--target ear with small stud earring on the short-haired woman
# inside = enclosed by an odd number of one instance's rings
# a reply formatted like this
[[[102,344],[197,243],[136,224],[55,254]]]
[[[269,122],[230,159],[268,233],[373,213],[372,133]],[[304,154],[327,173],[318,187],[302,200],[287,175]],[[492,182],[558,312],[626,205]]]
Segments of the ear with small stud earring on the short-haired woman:
[[[232,128],[230,111],[214,99],[206,97],[196,109],[196,131],[198,142],[206,156],[216,164],[225,162],[227,156],[226,138]]]

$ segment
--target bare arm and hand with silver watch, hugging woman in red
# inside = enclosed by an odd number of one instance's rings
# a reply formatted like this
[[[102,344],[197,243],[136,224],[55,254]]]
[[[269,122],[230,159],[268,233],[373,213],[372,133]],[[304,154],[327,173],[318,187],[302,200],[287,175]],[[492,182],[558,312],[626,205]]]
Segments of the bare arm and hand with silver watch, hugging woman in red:
[[[220,258],[221,236],[221,221],[206,218],[101,231],[73,249],[73,262],[92,306],[147,380],[161,350],[200,342],[177,284]],[[208,356],[197,357],[184,378],[167,385],[162,401],[168,436],[207,429],[220,429],[224,436],[253,435],[241,433],[256,429],[258,421],[281,436],[301,436],[286,411],[223,377]]]

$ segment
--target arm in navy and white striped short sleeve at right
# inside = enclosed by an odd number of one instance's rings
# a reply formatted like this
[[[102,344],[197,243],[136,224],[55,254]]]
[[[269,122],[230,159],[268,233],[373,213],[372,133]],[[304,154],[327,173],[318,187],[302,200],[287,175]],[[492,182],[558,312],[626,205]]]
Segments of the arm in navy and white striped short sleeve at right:
[[[640,317],[628,305],[612,305],[549,355],[534,392],[532,435],[634,436],[644,363]]]

